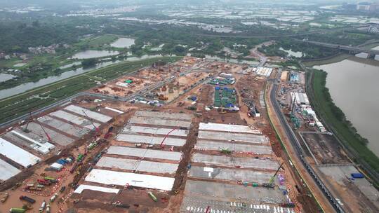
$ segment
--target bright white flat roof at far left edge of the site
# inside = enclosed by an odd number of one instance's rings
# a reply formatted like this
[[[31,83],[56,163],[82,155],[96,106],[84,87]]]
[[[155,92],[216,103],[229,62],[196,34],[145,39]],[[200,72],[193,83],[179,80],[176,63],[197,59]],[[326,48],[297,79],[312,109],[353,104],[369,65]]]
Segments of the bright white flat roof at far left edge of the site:
[[[32,153],[29,153],[2,138],[0,138],[0,154],[15,161],[23,167],[34,165],[41,160],[41,158],[34,156]]]

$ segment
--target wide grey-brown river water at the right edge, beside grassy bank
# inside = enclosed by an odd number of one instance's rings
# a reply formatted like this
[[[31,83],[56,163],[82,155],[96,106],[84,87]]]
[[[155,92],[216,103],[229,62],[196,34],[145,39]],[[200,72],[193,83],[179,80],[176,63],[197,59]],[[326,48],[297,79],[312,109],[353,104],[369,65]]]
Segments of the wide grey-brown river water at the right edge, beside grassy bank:
[[[357,57],[315,66],[328,73],[326,87],[358,133],[368,139],[368,148],[379,156],[379,62]]]

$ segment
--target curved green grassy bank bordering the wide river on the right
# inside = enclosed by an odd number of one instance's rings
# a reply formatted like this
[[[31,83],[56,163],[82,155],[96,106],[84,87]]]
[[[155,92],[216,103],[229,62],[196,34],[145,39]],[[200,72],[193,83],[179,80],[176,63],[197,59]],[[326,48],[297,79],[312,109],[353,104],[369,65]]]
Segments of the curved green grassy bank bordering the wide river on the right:
[[[352,132],[346,122],[340,121],[336,116],[338,113],[333,110],[333,102],[328,99],[329,95],[326,94],[328,91],[325,90],[325,79],[326,72],[314,70],[312,88],[314,91],[314,102],[316,103],[314,107],[316,111],[322,115],[325,120],[324,122],[334,128],[341,141],[357,153],[358,157],[355,159],[357,163],[359,163],[360,160],[364,160],[373,170],[379,172],[378,156],[375,156],[375,154],[368,149],[366,144],[359,138],[359,135]]]

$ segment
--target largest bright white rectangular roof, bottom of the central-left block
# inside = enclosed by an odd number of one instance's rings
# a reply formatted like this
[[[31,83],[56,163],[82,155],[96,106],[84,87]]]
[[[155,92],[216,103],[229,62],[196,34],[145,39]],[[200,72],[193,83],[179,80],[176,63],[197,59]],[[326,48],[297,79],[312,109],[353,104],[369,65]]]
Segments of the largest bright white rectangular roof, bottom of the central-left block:
[[[173,188],[175,179],[171,177],[159,177],[148,174],[94,169],[87,175],[86,181],[100,184],[114,184],[119,186],[129,185],[170,191],[171,188]]]

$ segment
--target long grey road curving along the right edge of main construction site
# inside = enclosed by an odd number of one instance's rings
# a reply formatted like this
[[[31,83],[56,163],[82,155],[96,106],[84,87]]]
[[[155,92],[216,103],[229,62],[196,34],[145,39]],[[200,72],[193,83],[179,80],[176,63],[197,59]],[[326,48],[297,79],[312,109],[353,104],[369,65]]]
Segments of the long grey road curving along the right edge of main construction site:
[[[280,76],[280,74],[278,74]],[[279,81],[279,77],[277,76],[276,80]],[[336,212],[343,213],[345,212],[340,204],[335,200],[333,195],[330,191],[328,191],[328,188],[323,184],[321,179],[318,177],[316,172],[312,169],[312,167],[307,163],[307,161],[304,158],[304,150],[302,149],[302,146],[300,145],[300,142],[298,141],[298,138],[295,136],[295,133],[293,132],[291,126],[288,124],[286,117],[284,116],[283,112],[281,111],[281,107],[279,106],[279,103],[277,102],[277,89],[278,84],[277,81],[274,81],[272,85],[272,90],[270,91],[270,100],[271,104],[274,107],[274,113],[277,115],[277,118],[279,118],[281,128],[283,128],[284,132],[286,132],[286,136],[288,137],[289,141],[291,142],[291,145],[293,146],[293,149],[295,150],[295,153],[297,157],[302,162],[302,165],[307,169],[309,174],[314,179],[314,182],[317,183],[317,186],[319,186],[320,190],[324,193],[326,198],[328,198],[329,202],[333,206]]]

